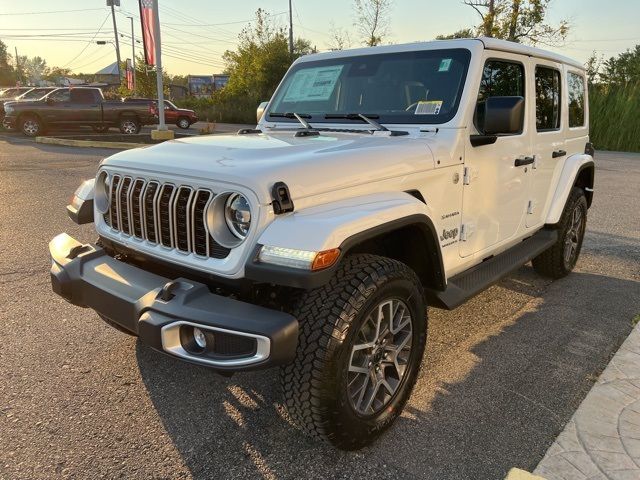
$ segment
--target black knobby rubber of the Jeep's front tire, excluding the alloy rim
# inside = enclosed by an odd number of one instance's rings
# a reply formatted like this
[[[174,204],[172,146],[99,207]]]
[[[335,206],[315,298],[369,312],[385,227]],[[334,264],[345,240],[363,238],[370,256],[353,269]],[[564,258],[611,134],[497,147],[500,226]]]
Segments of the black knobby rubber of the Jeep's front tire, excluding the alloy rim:
[[[351,350],[360,327],[381,301],[400,299],[411,314],[406,371],[382,411],[359,414],[349,399]],[[300,322],[296,359],[282,367],[290,418],[311,436],[344,450],[372,443],[402,412],[416,382],[427,336],[427,310],[415,272],[375,255],[346,257],[331,281],[306,292],[293,314]]]

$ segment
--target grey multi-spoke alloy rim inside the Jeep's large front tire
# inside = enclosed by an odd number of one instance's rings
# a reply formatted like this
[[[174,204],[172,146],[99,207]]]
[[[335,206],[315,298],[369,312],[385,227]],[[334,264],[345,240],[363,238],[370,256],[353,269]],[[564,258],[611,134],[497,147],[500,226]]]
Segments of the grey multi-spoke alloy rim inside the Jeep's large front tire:
[[[375,415],[397,392],[409,369],[413,343],[411,312],[399,299],[380,302],[369,313],[351,349],[347,390],[351,407]]]

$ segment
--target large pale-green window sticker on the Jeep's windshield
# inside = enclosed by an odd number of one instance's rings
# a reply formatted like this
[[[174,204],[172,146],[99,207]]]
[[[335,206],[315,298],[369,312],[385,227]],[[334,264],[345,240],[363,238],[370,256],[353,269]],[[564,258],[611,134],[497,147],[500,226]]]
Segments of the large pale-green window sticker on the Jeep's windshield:
[[[331,98],[344,65],[305,68],[291,79],[284,102],[315,102]]]

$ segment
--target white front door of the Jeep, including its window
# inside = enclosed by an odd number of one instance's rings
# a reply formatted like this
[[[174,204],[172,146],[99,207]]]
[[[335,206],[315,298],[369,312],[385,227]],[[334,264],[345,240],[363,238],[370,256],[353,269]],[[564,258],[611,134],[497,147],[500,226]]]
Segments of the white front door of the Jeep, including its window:
[[[484,102],[488,97],[521,96],[525,115],[520,133],[500,135],[492,145],[467,144],[462,206],[460,255],[482,254],[513,239],[526,212],[531,165],[518,166],[517,159],[531,157],[531,109],[527,98],[528,59],[520,55],[500,54],[488,58],[470,131],[484,129]],[[475,130],[475,132],[474,132]]]

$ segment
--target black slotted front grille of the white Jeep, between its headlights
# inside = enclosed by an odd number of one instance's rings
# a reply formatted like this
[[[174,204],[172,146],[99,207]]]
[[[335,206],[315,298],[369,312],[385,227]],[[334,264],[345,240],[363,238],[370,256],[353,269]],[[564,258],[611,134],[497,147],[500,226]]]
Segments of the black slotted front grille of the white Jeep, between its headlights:
[[[187,185],[113,175],[103,218],[124,235],[201,257],[226,258],[230,249],[211,237],[205,222],[214,196]]]

